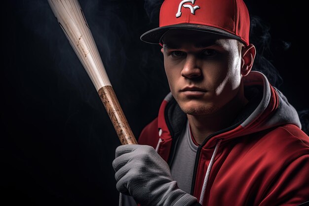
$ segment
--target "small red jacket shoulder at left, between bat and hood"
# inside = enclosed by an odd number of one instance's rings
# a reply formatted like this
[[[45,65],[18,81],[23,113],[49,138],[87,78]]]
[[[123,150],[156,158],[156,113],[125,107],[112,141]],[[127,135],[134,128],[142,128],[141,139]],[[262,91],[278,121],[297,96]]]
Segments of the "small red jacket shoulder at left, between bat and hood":
[[[143,128],[138,138],[138,143],[142,145],[150,145],[155,148],[158,139],[158,118],[155,118],[152,122]]]

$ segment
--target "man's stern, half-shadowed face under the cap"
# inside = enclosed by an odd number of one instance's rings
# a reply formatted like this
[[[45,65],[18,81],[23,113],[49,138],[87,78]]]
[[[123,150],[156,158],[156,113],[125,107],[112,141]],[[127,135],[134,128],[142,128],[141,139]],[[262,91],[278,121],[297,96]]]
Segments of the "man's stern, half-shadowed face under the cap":
[[[213,114],[237,96],[241,82],[237,40],[193,30],[170,30],[162,40],[169,87],[186,114]]]

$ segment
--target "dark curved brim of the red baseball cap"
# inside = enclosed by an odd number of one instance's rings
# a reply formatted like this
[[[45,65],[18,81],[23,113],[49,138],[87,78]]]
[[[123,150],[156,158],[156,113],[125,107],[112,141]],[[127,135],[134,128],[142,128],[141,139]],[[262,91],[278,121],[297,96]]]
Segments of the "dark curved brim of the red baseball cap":
[[[218,28],[210,27],[210,26],[205,26],[205,25],[200,25],[200,24],[188,24],[188,23],[187,24],[174,24],[174,25],[169,25],[169,26],[158,27],[158,28],[152,29],[152,30],[144,33],[141,36],[141,40],[145,41],[147,43],[158,44],[158,43],[160,43],[162,36],[170,29],[197,30],[197,31],[208,32],[208,33],[217,34],[217,35],[221,35],[221,36],[224,36],[224,37],[240,40],[240,37],[233,35],[229,32],[226,32],[222,29],[218,29]]]

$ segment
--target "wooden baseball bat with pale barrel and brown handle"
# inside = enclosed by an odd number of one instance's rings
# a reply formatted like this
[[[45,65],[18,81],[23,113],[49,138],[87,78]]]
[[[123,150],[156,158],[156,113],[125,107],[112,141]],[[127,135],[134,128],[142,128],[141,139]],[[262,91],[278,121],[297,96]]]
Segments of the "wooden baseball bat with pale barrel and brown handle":
[[[123,114],[78,0],[48,0],[67,39],[96,88],[121,144],[137,144]]]

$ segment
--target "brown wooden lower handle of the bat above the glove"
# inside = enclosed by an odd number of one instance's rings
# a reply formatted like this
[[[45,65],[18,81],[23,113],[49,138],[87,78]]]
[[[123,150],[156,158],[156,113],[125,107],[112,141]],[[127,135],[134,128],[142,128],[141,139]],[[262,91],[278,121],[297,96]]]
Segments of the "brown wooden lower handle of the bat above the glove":
[[[103,86],[98,90],[104,107],[109,114],[122,145],[137,144],[134,134],[123,114],[112,86]]]

